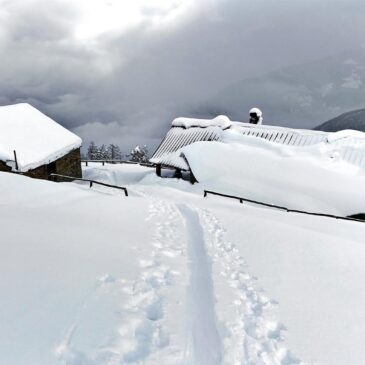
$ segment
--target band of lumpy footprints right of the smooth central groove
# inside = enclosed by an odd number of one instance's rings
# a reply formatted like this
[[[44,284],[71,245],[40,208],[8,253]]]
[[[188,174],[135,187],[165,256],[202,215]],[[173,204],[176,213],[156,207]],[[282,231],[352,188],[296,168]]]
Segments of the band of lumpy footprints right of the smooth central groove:
[[[256,279],[247,272],[247,265],[234,244],[225,239],[225,230],[218,219],[205,210],[201,211],[201,220],[214,274],[223,278],[235,298],[235,317],[224,323],[227,335],[223,341],[223,364],[303,364],[284,347],[281,332],[285,327],[270,315],[275,302],[263,290],[256,289]]]

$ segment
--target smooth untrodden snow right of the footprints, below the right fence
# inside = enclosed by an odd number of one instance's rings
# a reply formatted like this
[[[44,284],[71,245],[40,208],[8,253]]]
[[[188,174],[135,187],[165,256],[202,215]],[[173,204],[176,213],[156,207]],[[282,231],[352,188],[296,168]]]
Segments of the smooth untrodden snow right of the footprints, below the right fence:
[[[363,364],[363,224],[247,207],[216,216],[278,302],[287,348],[307,364]]]

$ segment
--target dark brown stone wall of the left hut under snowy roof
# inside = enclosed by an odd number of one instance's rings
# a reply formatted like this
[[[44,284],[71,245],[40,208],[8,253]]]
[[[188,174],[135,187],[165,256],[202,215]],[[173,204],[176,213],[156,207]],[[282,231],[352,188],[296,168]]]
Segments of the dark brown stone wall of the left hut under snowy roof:
[[[11,169],[0,161],[0,171],[10,171]],[[36,179],[47,180],[50,174],[60,174],[74,177],[82,177],[80,148],[77,148],[67,155],[51,162],[47,165],[39,166],[33,170],[22,173]]]

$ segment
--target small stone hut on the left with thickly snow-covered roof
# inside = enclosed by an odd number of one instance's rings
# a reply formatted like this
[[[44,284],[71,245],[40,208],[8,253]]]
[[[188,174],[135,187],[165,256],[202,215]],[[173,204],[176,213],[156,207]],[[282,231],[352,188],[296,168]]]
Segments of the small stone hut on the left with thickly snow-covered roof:
[[[0,107],[0,171],[81,177],[81,138],[33,106]]]

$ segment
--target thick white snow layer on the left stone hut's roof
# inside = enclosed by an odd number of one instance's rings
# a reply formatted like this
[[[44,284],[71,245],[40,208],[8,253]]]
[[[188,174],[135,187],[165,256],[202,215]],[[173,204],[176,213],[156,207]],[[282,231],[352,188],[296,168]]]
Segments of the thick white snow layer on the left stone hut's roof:
[[[0,160],[19,171],[55,161],[81,146],[81,139],[29,104],[0,107]]]

